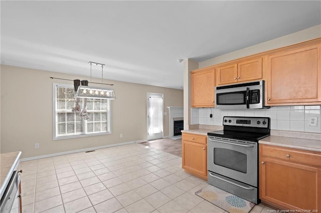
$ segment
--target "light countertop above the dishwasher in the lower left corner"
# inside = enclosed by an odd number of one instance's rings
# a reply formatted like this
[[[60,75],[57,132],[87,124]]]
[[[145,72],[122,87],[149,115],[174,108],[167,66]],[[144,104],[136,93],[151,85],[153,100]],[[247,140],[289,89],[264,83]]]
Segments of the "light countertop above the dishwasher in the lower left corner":
[[[1,197],[4,194],[9,180],[17,169],[19,164],[21,151],[2,153],[0,154],[0,183],[1,183]]]

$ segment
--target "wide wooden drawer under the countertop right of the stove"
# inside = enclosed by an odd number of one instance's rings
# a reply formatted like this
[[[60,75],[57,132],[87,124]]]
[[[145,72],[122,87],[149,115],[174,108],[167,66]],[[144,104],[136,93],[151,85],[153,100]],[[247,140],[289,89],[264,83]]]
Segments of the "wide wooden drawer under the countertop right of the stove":
[[[266,157],[275,157],[291,162],[305,163],[321,166],[321,152],[302,150],[297,148],[285,148],[273,145],[261,145],[261,154]]]

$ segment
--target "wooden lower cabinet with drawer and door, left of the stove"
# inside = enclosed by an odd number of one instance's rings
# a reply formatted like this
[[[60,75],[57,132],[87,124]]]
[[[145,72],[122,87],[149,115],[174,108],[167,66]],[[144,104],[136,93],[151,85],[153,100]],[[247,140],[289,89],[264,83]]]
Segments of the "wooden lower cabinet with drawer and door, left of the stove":
[[[182,133],[182,167],[207,180],[207,136]]]

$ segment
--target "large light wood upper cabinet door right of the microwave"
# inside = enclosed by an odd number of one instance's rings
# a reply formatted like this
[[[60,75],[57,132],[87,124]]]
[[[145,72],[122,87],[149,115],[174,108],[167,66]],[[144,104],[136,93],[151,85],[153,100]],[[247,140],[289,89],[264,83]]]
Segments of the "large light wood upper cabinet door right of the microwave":
[[[266,56],[267,105],[321,101],[320,46],[314,44]]]

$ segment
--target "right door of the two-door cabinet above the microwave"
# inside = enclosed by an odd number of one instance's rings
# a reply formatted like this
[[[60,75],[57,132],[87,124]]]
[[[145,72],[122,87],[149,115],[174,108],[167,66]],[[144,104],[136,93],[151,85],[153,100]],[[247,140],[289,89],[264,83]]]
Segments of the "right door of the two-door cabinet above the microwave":
[[[237,64],[238,81],[262,78],[262,58],[246,60]]]

